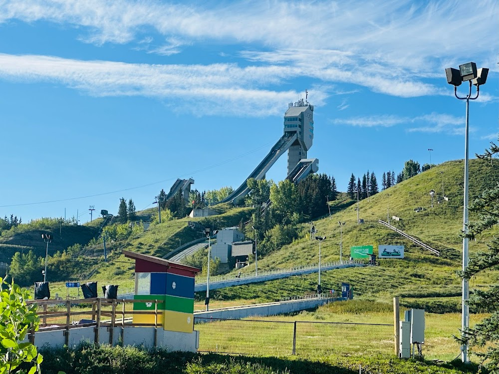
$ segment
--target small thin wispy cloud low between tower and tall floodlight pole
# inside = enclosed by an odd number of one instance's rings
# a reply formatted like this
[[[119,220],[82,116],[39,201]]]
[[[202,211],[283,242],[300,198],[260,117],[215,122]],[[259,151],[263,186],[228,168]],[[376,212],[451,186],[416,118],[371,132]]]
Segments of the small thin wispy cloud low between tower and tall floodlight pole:
[[[336,119],[333,124],[355,127],[404,126],[408,132],[446,133],[450,135],[462,135],[464,133],[463,118],[441,113],[431,113],[417,117],[396,115],[354,117]]]

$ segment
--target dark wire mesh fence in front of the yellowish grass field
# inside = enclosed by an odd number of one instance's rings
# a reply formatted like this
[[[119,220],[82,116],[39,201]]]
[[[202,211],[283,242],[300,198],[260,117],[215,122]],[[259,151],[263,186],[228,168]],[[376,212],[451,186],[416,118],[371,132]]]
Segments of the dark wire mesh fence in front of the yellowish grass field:
[[[394,351],[393,325],[195,317],[199,351],[244,355],[330,355]]]

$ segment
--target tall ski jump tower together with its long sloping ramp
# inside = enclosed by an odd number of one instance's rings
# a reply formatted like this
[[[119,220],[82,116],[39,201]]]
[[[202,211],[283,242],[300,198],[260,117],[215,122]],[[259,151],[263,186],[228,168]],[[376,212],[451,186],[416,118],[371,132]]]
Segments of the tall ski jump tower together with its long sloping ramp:
[[[288,109],[284,114],[284,134],[275,143],[270,152],[260,162],[255,170],[250,174],[243,184],[231,193],[221,202],[233,202],[238,204],[250,192],[248,188],[248,179],[253,178],[257,181],[265,178],[265,173],[274,165],[284,152],[288,151],[287,174],[290,175],[295,167],[306,159],[307,151],[312,146],[313,141],[313,105],[303,99],[296,103],[289,103]],[[312,162],[310,162],[312,160]],[[318,160],[308,160],[311,165],[308,172],[317,172]],[[305,160],[303,160],[305,161]],[[303,174],[302,176],[304,176]],[[295,181],[296,182],[296,181]]]

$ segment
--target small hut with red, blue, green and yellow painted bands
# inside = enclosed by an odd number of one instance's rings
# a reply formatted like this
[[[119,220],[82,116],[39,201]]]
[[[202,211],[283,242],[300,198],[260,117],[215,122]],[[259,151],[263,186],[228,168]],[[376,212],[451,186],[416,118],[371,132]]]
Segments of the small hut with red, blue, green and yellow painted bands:
[[[158,323],[164,330],[192,333],[194,330],[194,277],[200,272],[192,266],[123,250],[135,259],[134,300],[164,300]],[[133,310],[154,311],[152,303],[134,303]],[[135,324],[154,324],[154,314],[134,314]]]

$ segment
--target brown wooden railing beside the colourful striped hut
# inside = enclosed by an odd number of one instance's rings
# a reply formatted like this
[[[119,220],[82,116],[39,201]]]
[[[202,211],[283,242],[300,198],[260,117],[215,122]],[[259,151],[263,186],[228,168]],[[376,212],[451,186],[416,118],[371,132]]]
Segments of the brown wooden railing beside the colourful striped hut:
[[[80,327],[90,327],[94,326],[94,343],[99,343],[99,328],[109,327],[109,344],[113,343],[113,331],[114,327],[124,327],[124,326],[148,326],[148,327],[162,327],[158,323],[158,316],[162,314],[161,310],[158,310],[158,304],[164,303],[164,300],[128,300],[128,299],[80,299],[80,300],[29,300],[26,303],[37,304],[38,307],[42,308],[42,311],[37,311],[38,317],[40,317],[40,329],[39,331],[64,331],[64,342],[66,345],[69,344],[69,330],[80,328]],[[151,308],[154,306],[154,310],[151,311],[134,311],[126,310],[127,305],[132,305],[134,303],[151,303]],[[86,305],[88,310],[81,310],[81,305]],[[48,308],[51,307],[61,307],[62,310],[49,311]],[[105,307],[111,307],[109,310]],[[77,310],[75,310],[77,309]],[[133,309],[133,308],[132,308]],[[154,315],[154,323],[133,323],[133,315]],[[81,319],[81,316],[89,316],[90,319],[88,323],[75,324],[75,322]],[[119,318],[117,318],[117,316]],[[125,317],[129,316],[129,317]],[[64,319],[65,317],[65,319]],[[74,318],[78,317],[78,318]],[[54,321],[54,322],[51,322]],[[64,323],[61,323],[63,320]],[[29,341],[34,343],[34,329],[31,329],[29,334]],[[155,335],[156,343],[156,335]],[[155,344],[156,346],[156,344]]]

